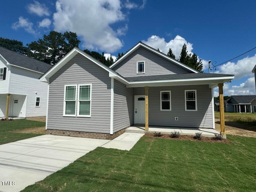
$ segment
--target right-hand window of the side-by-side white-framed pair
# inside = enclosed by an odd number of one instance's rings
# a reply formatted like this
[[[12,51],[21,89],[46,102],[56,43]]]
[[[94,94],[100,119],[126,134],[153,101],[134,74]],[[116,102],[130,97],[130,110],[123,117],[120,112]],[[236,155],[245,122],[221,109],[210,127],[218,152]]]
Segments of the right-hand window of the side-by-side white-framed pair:
[[[78,116],[90,116],[91,111],[91,86],[78,85]]]

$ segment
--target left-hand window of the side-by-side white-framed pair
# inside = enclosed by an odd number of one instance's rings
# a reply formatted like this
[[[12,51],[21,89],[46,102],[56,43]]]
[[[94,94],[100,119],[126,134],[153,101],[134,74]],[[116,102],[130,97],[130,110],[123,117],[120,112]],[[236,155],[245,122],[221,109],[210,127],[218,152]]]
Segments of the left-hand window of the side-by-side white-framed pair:
[[[64,116],[76,116],[76,87],[77,85],[65,85]]]

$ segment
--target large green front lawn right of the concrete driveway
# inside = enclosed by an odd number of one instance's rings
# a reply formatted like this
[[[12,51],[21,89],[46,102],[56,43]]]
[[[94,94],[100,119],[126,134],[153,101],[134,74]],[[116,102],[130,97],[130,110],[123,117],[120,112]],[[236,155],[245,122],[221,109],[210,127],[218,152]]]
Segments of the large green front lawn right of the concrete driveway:
[[[232,144],[142,137],[132,150],[96,148],[24,192],[255,191],[256,138]]]

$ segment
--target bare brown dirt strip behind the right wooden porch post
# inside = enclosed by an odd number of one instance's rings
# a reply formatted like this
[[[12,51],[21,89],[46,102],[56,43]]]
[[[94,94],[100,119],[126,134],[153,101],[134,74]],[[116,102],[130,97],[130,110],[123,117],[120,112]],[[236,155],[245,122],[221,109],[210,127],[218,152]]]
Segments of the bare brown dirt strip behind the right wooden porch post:
[[[220,119],[215,119],[215,129],[220,132]],[[251,131],[253,129],[254,126],[245,123],[225,121],[226,134],[256,138],[256,132]]]

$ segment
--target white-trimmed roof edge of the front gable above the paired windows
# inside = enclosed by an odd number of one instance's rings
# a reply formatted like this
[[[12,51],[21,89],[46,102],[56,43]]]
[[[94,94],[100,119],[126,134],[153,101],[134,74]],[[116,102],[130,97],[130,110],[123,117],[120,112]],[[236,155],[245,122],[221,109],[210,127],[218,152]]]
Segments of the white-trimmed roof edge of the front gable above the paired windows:
[[[81,54],[82,56],[88,58],[89,60],[91,60],[96,65],[98,65],[101,68],[103,68],[104,70],[108,71],[110,73],[109,75],[111,77],[115,77],[115,78],[117,78],[118,80],[120,80],[123,83],[128,83],[128,80],[126,80],[120,74],[118,74],[117,72],[113,71],[108,66],[106,66],[103,63],[99,62],[94,57],[90,56],[86,52],[83,52],[82,50],[80,50],[77,47],[74,47],[70,52],[68,52],[68,54],[66,54],[61,60],[59,60],[52,68],[50,68],[47,72],[45,72],[45,74],[43,74],[40,77],[40,81],[49,82],[49,78],[51,76],[53,76],[58,70],[60,70],[60,68],[62,68],[62,66],[64,66],[66,63],[68,63],[72,58],[74,58],[74,56],[76,56],[78,53]]]

